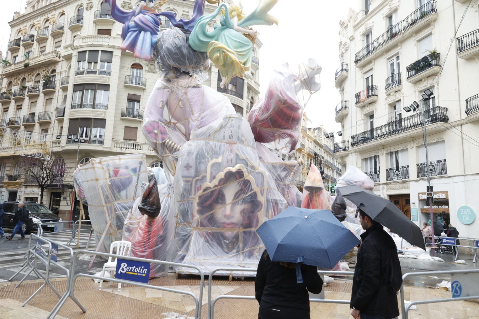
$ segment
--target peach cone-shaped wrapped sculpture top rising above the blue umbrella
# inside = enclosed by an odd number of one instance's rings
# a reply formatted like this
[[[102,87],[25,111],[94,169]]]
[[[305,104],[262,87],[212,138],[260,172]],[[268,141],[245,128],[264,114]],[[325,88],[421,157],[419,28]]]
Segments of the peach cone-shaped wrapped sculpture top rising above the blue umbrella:
[[[304,182],[301,208],[331,210],[329,194],[324,189],[321,172],[314,164],[311,164],[308,176]]]

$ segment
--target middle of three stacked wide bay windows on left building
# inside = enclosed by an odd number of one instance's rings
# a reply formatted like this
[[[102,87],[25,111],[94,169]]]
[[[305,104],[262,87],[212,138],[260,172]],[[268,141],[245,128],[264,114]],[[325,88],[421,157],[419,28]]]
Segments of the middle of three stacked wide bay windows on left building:
[[[72,109],[108,109],[110,86],[106,84],[75,84]]]

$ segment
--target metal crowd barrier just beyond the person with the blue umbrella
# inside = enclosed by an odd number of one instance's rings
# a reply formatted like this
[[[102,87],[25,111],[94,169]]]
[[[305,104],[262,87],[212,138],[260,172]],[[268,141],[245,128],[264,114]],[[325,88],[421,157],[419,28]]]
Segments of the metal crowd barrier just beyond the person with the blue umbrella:
[[[208,276],[208,319],[214,319],[215,317],[215,304],[219,299],[242,299],[242,300],[255,300],[256,296],[236,296],[236,295],[221,295],[211,300],[212,294],[212,280],[213,275],[218,271],[229,272],[256,272],[255,268],[217,268],[214,269]],[[319,275],[346,275],[353,276],[354,271],[318,271]],[[324,287],[323,287],[324,291]],[[349,305],[349,300],[336,300],[336,299],[322,299],[322,298],[309,298],[311,302],[332,303],[332,304],[345,304]]]

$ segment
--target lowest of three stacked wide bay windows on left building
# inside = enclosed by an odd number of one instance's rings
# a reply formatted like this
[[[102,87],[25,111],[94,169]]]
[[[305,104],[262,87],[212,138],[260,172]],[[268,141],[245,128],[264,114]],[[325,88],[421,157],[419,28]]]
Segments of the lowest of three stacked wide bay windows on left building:
[[[83,143],[103,144],[105,119],[72,119],[68,125],[67,144]],[[78,139],[79,141],[75,141]]]

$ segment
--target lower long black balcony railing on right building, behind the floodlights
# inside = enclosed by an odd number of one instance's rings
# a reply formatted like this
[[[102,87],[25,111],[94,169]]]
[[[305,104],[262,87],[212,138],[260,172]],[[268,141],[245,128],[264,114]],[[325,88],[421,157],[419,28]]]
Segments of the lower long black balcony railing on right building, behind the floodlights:
[[[433,109],[426,110],[426,125],[443,122],[447,123],[447,108],[436,106]],[[388,123],[375,127],[373,129],[361,132],[351,136],[351,146],[357,146],[364,143],[376,141],[391,135],[407,132],[422,127],[422,113],[416,113],[400,120],[389,121]]]

